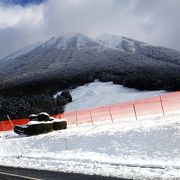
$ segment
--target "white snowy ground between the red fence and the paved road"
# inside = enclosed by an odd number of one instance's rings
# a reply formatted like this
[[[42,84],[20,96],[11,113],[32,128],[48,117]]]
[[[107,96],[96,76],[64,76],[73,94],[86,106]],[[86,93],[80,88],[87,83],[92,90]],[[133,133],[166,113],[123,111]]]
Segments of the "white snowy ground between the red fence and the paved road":
[[[68,127],[31,137],[13,132],[0,136],[0,165],[180,179],[180,114]]]

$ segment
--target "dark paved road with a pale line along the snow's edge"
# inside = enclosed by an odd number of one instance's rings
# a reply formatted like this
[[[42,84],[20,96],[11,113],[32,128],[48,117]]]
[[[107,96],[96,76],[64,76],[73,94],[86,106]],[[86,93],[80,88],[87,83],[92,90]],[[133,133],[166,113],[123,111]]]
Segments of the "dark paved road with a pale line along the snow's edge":
[[[0,166],[0,180],[124,180],[102,176],[61,173]],[[127,179],[126,179],[127,180]]]

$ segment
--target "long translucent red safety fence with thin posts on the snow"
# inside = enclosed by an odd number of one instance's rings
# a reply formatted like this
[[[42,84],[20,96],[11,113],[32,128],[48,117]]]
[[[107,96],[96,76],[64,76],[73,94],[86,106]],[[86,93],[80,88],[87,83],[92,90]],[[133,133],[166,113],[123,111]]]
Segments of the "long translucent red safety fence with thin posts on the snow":
[[[95,124],[102,121],[119,121],[122,119],[140,119],[150,115],[167,115],[180,110],[180,91],[167,93],[143,100],[119,103],[93,109],[53,115],[65,118],[68,125]],[[0,131],[12,130],[14,125],[23,125],[28,119],[0,121]]]

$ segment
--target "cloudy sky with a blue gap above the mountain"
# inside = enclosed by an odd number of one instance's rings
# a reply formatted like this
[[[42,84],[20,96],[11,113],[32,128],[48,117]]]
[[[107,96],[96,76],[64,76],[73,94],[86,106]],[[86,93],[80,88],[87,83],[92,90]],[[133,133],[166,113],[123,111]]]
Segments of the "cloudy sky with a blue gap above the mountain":
[[[180,0],[0,0],[0,58],[64,33],[123,35],[180,50]]]

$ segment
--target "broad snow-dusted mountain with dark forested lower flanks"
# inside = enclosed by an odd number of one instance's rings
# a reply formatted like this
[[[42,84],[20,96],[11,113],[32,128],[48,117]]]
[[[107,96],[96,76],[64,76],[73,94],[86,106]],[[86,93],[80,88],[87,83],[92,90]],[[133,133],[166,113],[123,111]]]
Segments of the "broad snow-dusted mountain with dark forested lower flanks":
[[[180,52],[126,37],[54,37],[0,60],[0,87],[71,86],[94,79],[138,89],[178,89]],[[71,84],[71,85],[69,85]]]

